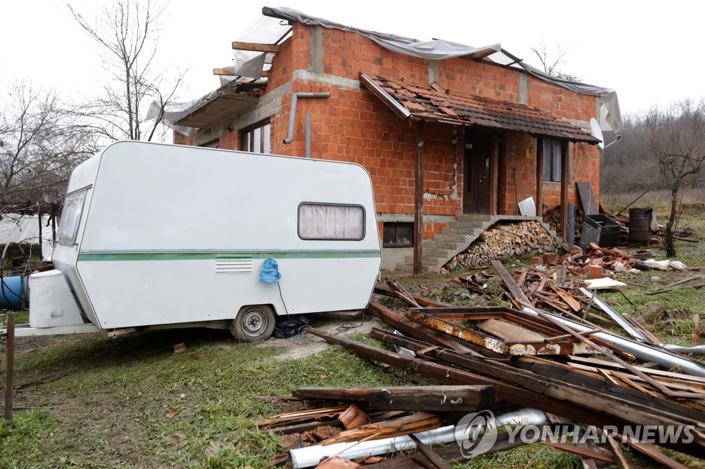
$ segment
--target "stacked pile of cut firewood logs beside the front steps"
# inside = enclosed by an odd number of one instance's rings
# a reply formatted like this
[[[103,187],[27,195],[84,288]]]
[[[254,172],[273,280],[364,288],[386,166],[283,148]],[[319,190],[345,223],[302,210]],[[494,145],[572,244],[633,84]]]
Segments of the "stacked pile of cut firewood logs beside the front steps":
[[[519,223],[497,223],[486,230],[470,246],[450,259],[446,270],[472,268],[493,259],[557,251],[560,244],[540,223],[525,220]]]

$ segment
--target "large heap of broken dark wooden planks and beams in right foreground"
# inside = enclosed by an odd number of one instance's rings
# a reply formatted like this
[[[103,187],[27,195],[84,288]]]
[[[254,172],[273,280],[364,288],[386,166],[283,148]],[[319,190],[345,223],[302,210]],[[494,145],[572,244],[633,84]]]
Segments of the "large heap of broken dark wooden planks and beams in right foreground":
[[[594,336],[601,330],[599,327],[581,332],[537,308],[541,303],[533,301],[535,295],[546,288],[553,292],[550,301],[563,301],[570,316],[582,320],[582,315],[573,308],[577,305],[571,305],[572,296],[561,293],[569,292],[566,284],[570,280],[565,280],[565,273],[558,272],[554,277],[553,273],[546,275],[534,270],[530,277],[530,269],[525,269],[515,273],[515,280],[500,263],[494,264],[516,308],[450,307],[410,294],[390,279],[391,287],[377,292],[404,299],[410,306],[392,311],[376,301],[370,304],[369,312],[396,330],[391,333],[373,328],[369,332],[369,337],[387,344],[386,348],[307,328],[310,334],[383,367],[398,368],[410,377],[418,375],[415,379],[434,380],[441,385],[302,388],[294,392],[296,399],[305,399],[308,405],[318,401],[333,407],[319,413],[310,411],[303,417],[313,420],[306,422],[292,424],[286,415],[278,415],[260,425],[271,427],[272,421],[286,423],[283,427],[286,432],[309,432],[298,439],[302,442],[300,446],[309,442],[314,444],[310,451],[321,451],[326,446],[338,451],[314,462],[313,465],[321,463],[321,468],[362,464],[378,468],[447,468],[448,462],[465,458],[455,439],[446,440],[451,441],[447,446],[429,448],[417,437],[429,431],[441,432],[448,425],[453,430],[452,425],[462,422],[467,413],[487,409],[501,415],[516,406],[543,411],[549,425],[568,423],[580,432],[601,434],[602,440],[596,443],[590,440],[589,444],[576,434],[575,444],[544,438],[537,442],[579,454],[586,467],[598,467],[598,461],[630,467],[633,453],[655,461],[656,465],[682,468],[648,438],[635,436],[641,434],[638,429],[647,426],[670,429],[666,430],[670,432],[668,439],[658,441],[660,446],[705,457],[705,377],[658,370],[654,363],[634,365],[634,356],[620,350],[615,343]],[[520,286],[527,278],[532,282]],[[543,286],[531,292],[537,283]],[[390,351],[392,347],[397,352]],[[584,355],[597,353],[602,356]],[[324,435],[322,439],[320,432],[311,434],[315,425],[324,423],[343,431]],[[389,461],[369,455],[355,461],[333,458],[338,453],[345,455],[341,453],[343,449],[338,449],[345,442],[357,446],[358,443],[350,442],[372,444],[379,440],[381,444],[386,442],[383,439],[395,438],[396,442],[396,438],[402,437],[407,443],[413,442],[413,446],[403,446],[404,449],[415,448],[419,452]],[[390,447],[402,447],[399,442]],[[510,439],[505,434],[488,451],[503,451],[521,444],[527,442]],[[348,447],[345,446],[345,451]],[[279,460],[283,461],[286,455]]]

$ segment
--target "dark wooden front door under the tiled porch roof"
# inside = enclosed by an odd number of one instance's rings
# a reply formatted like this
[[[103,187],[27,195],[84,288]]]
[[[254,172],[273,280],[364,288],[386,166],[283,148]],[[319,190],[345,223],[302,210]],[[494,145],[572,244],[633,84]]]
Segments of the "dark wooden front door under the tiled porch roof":
[[[462,213],[489,213],[491,154],[488,132],[465,130]]]

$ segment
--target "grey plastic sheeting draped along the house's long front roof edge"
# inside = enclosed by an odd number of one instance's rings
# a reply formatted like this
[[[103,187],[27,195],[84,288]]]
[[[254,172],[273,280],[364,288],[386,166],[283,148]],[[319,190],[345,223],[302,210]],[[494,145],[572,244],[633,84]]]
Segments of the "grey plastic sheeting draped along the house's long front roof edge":
[[[360,30],[355,27],[341,25],[340,23],[333,23],[329,20],[324,20],[323,18],[317,18],[315,16],[309,16],[305,13],[294,10],[293,8],[286,7],[264,7],[262,8],[262,13],[264,15],[274,16],[275,18],[283,18],[308,26],[321,26],[329,29],[356,32],[357,34],[372,39],[377,44],[391,51],[415,57],[429,58],[433,60],[468,56],[486,49],[494,49],[496,53],[491,54],[489,58],[497,63],[500,63],[502,65],[509,65],[515,68],[522,68],[523,70],[526,70],[527,73],[539,78],[539,80],[544,80],[546,82],[553,83],[553,85],[558,85],[560,87],[570,89],[571,91],[576,93],[598,95],[601,101],[601,108],[603,108],[603,112],[601,112],[601,115],[599,116],[599,121],[603,124],[606,123],[609,126],[609,129],[605,128],[603,130],[613,130],[614,132],[619,133],[622,128],[622,115],[620,112],[619,101],[617,99],[617,93],[615,92],[615,90],[610,88],[597,87],[594,85],[587,85],[581,82],[562,80],[560,78],[548,75],[547,73],[544,73],[538,68],[534,68],[532,67],[532,65],[529,65],[524,61],[520,60],[519,58],[516,58],[508,51],[505,51],[505,49],[501,48],[500,44],[493,44],[491,46],[477,48],[442,40],[421,42],[417,39],[388,35],[381,32]]]

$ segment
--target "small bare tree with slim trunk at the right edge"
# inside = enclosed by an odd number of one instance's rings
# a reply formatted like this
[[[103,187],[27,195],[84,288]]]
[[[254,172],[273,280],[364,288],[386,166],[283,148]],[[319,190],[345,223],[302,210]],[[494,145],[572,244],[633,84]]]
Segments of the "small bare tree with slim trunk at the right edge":
[[[705,162],[705,100],[678,101],[668,108],[651,108],[644,120],[649,129],[648,148],[658,162],[663,180],[670,185],[670,217],[666,223],[666,256],[675,257],[673,230],[678,192],[683,180],[697,175]]]

